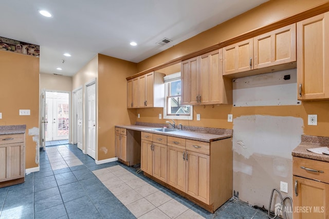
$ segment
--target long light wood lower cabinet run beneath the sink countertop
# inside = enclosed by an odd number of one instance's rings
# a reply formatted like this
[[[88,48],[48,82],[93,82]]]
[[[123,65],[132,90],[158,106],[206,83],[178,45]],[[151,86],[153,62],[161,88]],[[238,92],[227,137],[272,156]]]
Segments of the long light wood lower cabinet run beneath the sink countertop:
[[[150,141],[150,133],[145,135],[149,138],[143,140],[142,133],[141,169],[145,175],[157,178],[162,185],[210,212],[232,197],[231,137],[206,143],[168,136],[165,149],[163,144],[154,143],[154,134],[153,142]],[[167,178],[162,170],[167,170]]]

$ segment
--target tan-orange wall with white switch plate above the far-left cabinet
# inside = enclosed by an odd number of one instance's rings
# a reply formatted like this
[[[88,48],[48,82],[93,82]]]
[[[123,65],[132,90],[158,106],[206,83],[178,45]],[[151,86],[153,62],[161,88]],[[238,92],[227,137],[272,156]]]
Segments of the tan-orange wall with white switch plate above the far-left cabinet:
[[[25,167],[38,167],[39,148],[33,136],[38,138],[39,132],[39,58],[0,51],[0,66],[0,125],[26,125]],[[20,109],[29,109],[31,115],[20,116]]]

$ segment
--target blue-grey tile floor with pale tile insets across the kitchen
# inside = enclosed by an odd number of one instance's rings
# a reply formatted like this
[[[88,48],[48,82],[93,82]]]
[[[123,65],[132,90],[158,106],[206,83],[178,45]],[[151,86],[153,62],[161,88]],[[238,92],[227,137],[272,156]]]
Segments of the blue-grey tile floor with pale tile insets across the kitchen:
[[[0,188],[0,219],[268,218],[241,201],[211,214],[132,167],[95,164],[76,145],[46,151],[40,151],[39,172],[26,175],[24,184]]]

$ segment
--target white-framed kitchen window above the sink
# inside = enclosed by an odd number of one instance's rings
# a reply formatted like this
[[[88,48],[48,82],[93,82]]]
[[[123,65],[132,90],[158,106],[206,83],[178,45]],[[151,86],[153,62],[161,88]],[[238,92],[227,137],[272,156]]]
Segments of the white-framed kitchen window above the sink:
[[[166,103],[165,107],[163,108],[163,118],[193,120],[193,107],[190,105],[180,105],[180,72],[165,76],[164,80],[166,89]]]

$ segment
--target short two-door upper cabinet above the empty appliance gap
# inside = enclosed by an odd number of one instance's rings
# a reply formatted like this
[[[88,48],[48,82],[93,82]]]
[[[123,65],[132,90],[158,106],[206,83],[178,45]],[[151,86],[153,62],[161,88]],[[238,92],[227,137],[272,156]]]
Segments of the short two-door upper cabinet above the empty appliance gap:
[[[296,24],[223,48],[223,75],[244,77],[296,68]]]

